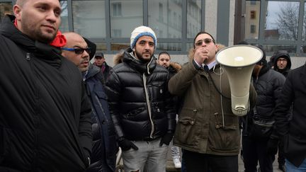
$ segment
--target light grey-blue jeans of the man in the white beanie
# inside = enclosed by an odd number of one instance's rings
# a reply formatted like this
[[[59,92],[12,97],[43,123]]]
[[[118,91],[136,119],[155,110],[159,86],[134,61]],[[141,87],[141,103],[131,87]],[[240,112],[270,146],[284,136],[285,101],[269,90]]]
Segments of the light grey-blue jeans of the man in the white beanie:
[[[151,142],[132,141],[138,150],[123,151],[124,171],[144,171],[146,166],[146,171],[149,172],[165,172],[168,145],[163,144],[159,147],[160,140],[159,138]]]

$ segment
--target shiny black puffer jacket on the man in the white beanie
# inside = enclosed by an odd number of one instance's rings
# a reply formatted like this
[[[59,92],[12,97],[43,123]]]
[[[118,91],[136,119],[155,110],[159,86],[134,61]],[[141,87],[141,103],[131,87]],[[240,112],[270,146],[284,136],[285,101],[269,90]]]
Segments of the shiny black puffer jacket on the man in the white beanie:
[[[167,88],[169,73],[155,58],[143,64],[129,48],[106,81],[111,117],[118,137],[156,139],[174,132],[174,104]]]

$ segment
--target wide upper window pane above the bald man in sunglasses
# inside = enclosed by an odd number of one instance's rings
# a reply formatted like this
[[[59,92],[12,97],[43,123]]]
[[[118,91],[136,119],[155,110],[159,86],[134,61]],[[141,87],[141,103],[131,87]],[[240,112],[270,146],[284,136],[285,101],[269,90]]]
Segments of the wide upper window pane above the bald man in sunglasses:
[[[72,1],[74,32],[86,38],[106,38],[105,1]]]

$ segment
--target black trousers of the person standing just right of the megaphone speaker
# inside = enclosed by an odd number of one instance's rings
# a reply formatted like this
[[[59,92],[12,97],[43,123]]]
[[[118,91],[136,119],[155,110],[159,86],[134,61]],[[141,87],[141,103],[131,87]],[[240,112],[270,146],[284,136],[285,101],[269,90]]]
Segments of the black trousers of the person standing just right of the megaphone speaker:
[[[256,172],[259,161],[261,172],[273,172],[274,154],[268,154],[268,139],[253,139],[248,136],[242,137],[242,149],[244,150],[245,172]]]

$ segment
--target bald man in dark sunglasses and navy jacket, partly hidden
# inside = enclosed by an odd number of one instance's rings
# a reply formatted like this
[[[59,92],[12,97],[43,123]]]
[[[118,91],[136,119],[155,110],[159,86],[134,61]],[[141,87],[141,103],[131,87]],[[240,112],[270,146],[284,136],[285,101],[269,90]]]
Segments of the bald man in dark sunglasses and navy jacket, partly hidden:
[[[62,55],[72,61],[83,74],[87,95],[91,100],[91,120],[93,122],[93,147],[91,165],[86,172],[114,172],[118,146],[115,128],[108,110],[105,83],[101,69],[89,61],[94,57],[96,44],[77,33],[63,33],[67,45],[62,47]],[[89,47],[90,46],[90,47]]]

